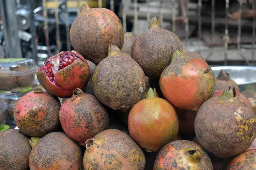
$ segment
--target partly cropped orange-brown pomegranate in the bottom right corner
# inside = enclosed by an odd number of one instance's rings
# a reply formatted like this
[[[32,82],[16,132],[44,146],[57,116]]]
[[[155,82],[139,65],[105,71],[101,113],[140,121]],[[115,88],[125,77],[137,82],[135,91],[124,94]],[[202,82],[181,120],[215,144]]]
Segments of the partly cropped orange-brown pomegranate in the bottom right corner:
[[[227,170],[255,170],[256,150],[248,150],[236,156],[228,165]]]

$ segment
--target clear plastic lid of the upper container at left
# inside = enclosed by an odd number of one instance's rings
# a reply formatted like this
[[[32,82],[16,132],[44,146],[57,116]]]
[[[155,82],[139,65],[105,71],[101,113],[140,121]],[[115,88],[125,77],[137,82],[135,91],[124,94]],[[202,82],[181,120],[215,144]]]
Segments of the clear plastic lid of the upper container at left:
[[[36,72],[37,69],[38,66],[33,59],[0,58],[0,74],[7,74],[8,76],[24,76]]]

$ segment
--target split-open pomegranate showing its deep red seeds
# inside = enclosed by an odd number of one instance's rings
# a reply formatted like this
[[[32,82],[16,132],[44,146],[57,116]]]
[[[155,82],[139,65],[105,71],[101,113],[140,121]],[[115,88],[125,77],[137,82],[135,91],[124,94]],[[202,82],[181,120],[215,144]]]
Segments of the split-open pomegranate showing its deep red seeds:
[[[77,51],[61,51],[47,59],[37,73],[40,84],[56,97],[71,97],[76,88],[83,89],[90,77],[90,68]]]

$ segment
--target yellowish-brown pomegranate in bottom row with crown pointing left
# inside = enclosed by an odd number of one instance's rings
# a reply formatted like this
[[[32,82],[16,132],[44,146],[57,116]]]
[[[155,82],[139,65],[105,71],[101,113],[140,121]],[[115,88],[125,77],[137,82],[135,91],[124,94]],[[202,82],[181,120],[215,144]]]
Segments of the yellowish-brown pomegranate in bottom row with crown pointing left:
[[[86,142],[84,170],[144,170],[145,155],[121,130],[108,129]]]

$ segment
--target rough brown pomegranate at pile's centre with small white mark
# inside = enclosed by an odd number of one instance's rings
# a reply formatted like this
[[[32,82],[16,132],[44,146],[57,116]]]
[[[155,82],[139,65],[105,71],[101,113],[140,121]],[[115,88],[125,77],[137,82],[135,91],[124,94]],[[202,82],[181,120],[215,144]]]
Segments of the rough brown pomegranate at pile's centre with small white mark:
[[[95,96],[113,110],[130,110],[142,99],[146,89],[140,65],[125,57],[116,45],[109,47],[108,57],[97,65],[92,83]]]

